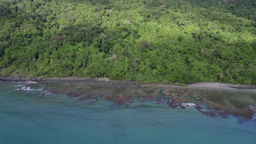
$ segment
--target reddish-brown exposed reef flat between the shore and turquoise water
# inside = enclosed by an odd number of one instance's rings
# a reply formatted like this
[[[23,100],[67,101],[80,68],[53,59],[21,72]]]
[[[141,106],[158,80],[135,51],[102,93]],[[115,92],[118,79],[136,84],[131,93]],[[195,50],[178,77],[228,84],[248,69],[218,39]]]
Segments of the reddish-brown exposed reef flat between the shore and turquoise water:
[[[75,80],[75,81],[71,81]],[[53,81],[53,82],[52,82]],[[39,81],[40,82],[40,81]],[[156,105],[167,105],[172,109],[196,109],[203,115],[229,115],[252,119],[256,116],[255,89],[237,89],[233,85],[207,83],[186,87],[176,85],[143,84],[108,79],[48,78],[44,83],[27,83],[18,86],[16,92],[38,92],[42,97],[65,94],[75,101],[112,101],[114,105],[129,106],[132,103],[152,101]],[[43,87],[40,85],[43,85]],[[222,87],[222,86],[225,87]],[[253,87],[253,86],[252,86]]]

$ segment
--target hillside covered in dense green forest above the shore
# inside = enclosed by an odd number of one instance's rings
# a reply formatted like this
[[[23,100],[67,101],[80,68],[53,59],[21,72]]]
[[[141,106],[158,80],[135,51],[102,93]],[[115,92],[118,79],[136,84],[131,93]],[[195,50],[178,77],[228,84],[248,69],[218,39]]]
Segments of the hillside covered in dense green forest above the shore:
[[[2,75],[256,84],[254,0],[1,0]]]

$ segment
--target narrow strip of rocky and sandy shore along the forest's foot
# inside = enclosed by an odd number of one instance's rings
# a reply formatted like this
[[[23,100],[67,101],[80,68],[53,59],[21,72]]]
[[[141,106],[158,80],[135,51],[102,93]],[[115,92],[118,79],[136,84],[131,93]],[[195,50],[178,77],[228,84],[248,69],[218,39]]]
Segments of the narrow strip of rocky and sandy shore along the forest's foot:
[[[218,82],[196,82],[188,84],[187,86],[174,85],[174,83],[162,84],[162,83],[140,83],[138,81],[130,80],[114,80],[101,77],[30,77],[26,75],[0,75],[0,82],[39,82],[39,83],[58,83],[58,82],[86,82],[91,86],[102,87],[184,87],[184,88],[199,88],[199,89],[220,89],[220,90],[239,90],[250,91],[256,93],[255,85],[233,85],[228,83]]]

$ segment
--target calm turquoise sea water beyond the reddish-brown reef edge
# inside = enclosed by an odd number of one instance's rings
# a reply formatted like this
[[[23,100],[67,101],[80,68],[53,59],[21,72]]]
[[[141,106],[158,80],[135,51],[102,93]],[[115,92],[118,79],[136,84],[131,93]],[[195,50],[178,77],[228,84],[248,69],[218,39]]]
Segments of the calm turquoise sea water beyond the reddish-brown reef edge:
[[[256,143],[256,121],[209,117],[151,101],[117,106],[103,99],[14,92],[0,83],[0,143]]]

